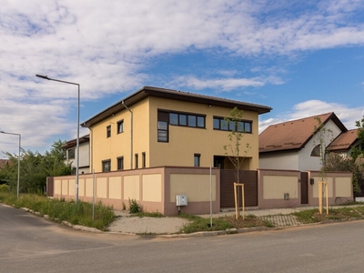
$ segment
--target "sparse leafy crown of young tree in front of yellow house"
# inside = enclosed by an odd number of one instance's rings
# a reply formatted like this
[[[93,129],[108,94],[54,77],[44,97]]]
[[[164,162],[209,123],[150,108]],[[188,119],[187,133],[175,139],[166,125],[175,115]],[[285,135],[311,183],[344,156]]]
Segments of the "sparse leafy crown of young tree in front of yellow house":
[[[224,150],[225,155],[227,155],[228,159],[230,159],[231,163],[237,171],[237,183],[240,183],[239,172],[243,164],[244,158],[247,157],[248,151],[251,148],[248,143],[245,144],[245,149],[242,149],[240,147],[242,144],[242,138],[245,135],[244,128],[241,127],[242,118],[243,111],[239,110],[238,107],[234,107],[230,111],[230,117],[225,118],[227,127],[231,129],[231,132],[227,136],[230,143],[224,146]]]

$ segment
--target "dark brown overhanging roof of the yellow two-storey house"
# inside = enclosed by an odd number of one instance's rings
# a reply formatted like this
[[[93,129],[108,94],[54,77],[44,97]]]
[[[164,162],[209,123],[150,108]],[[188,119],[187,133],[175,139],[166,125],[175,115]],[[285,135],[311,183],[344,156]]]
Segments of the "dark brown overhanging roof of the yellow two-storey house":
[[[247,102],[242,102],[238,100],[226,99],[217,96],[205,96],[189,92],[177,91],[173,89],[166,89],[153,86],[144,86],[140,88],[136,93],[126,96],[126,98],[120,100],[113,106],[109,106],[104,111],[96,114],[96,116],[91,117],[81,124],[84,127],[90,127],[96,123],[102,121],[108,116],[112,116],[115,113],[125,110],[127,107],[134,105],[136,102],[146,98],[147,96],[156,96],[163,98],[170,98],[180,101],[194,102],[198,104],[205,104],[208,106],[224,106],[229,108],[234,108],[237,106],[241,110],[248,110],[258,112],[258,115],[268,113],[272,109],[269,106],[261,106],[256,104],[251,104]],[[124,105],[123,105],[124,104]]]

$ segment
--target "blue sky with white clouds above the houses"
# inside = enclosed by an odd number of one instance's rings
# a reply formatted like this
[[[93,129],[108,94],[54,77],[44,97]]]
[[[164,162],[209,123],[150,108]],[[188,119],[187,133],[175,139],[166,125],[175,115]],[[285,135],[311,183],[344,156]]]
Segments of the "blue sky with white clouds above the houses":
[[[270,106],[260,132],[329,112],[353,129],[364,114],[361,0],[0,5],[0,131],[25,150],[76,138],[77,86],[36,74],[80,85],[81,123],[142,86]],[[0,151],[17,150],[0,134]]]

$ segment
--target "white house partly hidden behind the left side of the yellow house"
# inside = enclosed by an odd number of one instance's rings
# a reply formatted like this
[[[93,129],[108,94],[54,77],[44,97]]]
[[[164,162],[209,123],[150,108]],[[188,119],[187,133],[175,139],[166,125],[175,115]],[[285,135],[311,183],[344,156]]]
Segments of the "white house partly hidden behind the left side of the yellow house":
[[[62,147],[66,150],[66,160],[65,163],[71,163],[71,166],[76,169],[76,139],[72,139],[66,142],[66,144]],[[79,174],[88,174],[90,173],[90,135],[80,136],[79,137],[79,166],[78,173]]]

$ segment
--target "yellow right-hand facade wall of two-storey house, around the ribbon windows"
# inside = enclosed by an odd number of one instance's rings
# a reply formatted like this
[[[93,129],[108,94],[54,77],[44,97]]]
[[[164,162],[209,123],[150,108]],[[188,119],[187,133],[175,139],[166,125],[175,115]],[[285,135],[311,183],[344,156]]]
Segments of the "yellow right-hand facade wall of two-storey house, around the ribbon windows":
[[[157,142],[157,109],[206,115],[206,128],[169,126],[169,142]],[[226,131],[213,129],[213,116],[230,116],[230,108],[179,102],[150,97],[150,165],[193,167],[194,154],[200,154],[200,166],[213,166],[214,155],[225,156],[229,144]],[[248,157],[250,169],[258,168],[258,113],[244,111],[243,119],[252,121],[252,134],[245,134],[240,148],[248,142],[252,147]],[[248,158],[247,158],[248,159]]]

